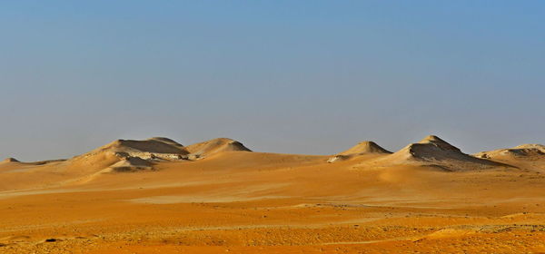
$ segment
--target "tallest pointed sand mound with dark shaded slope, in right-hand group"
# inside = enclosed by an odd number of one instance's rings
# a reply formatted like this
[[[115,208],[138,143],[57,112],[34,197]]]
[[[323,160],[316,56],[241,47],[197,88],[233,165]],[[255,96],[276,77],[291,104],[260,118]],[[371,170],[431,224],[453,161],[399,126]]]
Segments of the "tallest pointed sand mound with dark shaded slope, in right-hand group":
[[[420,164],[440,167],[446,171],[470,171],[509,166],[495,161],[472,157],[437,136],[428,136],[411,143],[385,158],[393,164]]]

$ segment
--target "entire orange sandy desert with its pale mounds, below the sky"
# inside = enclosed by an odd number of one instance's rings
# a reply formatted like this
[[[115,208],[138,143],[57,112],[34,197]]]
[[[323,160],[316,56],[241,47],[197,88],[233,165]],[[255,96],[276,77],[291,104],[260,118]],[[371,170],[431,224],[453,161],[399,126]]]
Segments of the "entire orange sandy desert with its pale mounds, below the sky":
[[[0,253],[545,253],[545,146],[117,140],[0,162]]]

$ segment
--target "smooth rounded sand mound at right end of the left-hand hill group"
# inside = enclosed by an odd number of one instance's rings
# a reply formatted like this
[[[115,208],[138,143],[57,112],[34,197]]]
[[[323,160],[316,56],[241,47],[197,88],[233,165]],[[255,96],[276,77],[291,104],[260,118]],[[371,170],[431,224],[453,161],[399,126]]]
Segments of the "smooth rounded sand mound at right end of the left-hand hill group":
[[[251,151],[243,143],[233,141],[232,139],[219,138],[206,142],[194,143],[185,147],[190,159],[201,159],[214,153],[223,151]]]

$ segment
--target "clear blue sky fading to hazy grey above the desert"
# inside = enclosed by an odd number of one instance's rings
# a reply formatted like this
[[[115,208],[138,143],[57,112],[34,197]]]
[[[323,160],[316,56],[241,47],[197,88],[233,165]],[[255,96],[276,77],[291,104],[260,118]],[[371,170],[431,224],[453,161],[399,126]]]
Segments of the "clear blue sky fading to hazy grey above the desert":
[[[0,157],[545,143],[545,1],[1,1]]]

